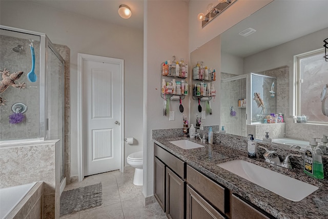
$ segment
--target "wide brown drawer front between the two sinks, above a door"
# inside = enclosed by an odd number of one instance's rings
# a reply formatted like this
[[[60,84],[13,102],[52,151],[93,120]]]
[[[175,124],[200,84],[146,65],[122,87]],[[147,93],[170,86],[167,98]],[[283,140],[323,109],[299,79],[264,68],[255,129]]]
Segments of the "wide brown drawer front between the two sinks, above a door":
[[[226,201],[229,201],[229,195],[226,197],[226,189],[189,165],[187,165],[187,183],[221,212],[227,213],[229,211],[228,205],[226,205]]]

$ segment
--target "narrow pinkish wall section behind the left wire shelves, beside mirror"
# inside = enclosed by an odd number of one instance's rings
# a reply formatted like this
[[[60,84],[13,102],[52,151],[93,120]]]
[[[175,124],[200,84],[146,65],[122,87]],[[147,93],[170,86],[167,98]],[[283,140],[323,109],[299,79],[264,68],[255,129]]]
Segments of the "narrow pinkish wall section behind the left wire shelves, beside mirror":
[[[163,99],[160,96],[160,64],[172,60],[175,55],[189,64],[188,53],[188,2],[148,1],[146,4],[145,28],[145,76],[147,96],[144,100],[144,121],[147,133],[144,135],[144,190],[145,197],[153,195],[154,150],[151,140],[152,129],[182,127],[183,114],[179,111],[179,101],[171,101],[170,110],[175,111],[175,121],[163,116]],[[145,80],[146,80],[145,78]],[[185,113],[189,112],[189,98],[182,100]],[[182,128],[181,128],[182,131]],[[147,157],[147,158],[146,158]]]

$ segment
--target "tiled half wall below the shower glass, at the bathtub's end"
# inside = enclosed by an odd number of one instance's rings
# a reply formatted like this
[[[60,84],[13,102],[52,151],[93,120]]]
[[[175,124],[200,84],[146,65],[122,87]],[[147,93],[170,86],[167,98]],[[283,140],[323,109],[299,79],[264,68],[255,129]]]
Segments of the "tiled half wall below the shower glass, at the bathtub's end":
[[[59,218],[59,153],[56,140],[2,145],[0,187],[44,182],[44,218]]]

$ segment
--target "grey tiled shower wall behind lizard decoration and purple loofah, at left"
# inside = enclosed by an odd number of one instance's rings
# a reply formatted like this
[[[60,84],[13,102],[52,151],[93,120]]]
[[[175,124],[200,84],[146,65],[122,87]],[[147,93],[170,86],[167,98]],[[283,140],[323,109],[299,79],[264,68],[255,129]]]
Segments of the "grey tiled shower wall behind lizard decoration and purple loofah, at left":
[[[29,44],[28,39],[0,36],[0,69],[4,70],[6,68],[10,71],[9,73],[23,71],[23,75],[15,83],[26,83],[25,89],[10,86],[0,94],[0,97],[6,100],[5,105],[0,106],[1,141],[36,138],[39,136],[39,83],[29,82],[26,78],[32,67]],[[24,47],[19,53],[12,50],[17,45]],[[40,76],[39,46],[39,42],[33,42],[35,74],[38,78]],[[24,113],[26,120],[19,124],[10,124],[8,117],[13,114],[11,106],[15,103],[24,103],[28,106],[28,110]]]

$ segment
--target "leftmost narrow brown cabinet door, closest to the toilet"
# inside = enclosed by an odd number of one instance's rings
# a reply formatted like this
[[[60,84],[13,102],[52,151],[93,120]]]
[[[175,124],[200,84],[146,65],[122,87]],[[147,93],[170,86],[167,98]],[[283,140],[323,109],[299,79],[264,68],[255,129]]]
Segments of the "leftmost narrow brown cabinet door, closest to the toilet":
[[[154,157],[154,196],[165,212],[165,164]]]

